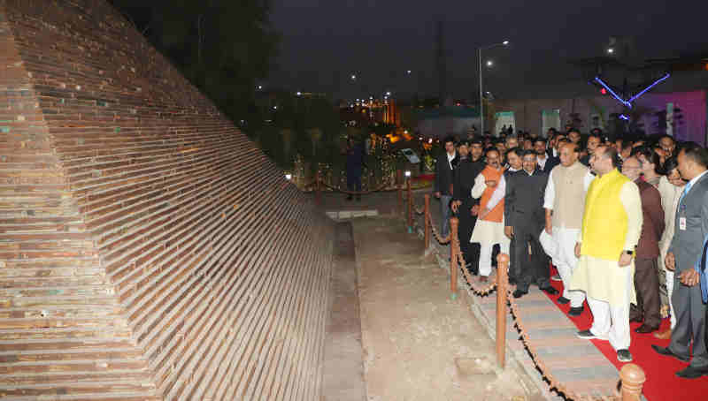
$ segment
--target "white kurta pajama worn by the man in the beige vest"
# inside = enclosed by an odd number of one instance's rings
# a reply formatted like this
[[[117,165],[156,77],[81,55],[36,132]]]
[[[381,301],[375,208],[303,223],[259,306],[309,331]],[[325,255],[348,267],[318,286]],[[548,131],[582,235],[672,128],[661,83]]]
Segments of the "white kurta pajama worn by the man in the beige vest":
[[[590,174],[585,175],[583,179],[583,196],[588,192],[588,187],[595,176]],[[550,171],[548,185],[543,198],[543,208],[552,210],[553,203],[556,200],[556,188],[553,181],[553,171]],[[560,226],[553,226],[552,246],[546,246],[544,249],[553,261],[553,265],[558,269],[558,276],[563,281],[563,298],[570,299],[571,307],[580,307],[585,300],[585,292],[570,290],[570,281],[573,277],[573,270],[578,267],[578,258],[575,257],[575,242],[580,234],[580,229],[571,229]],[[555,252],[553,252],[555,251]]]

